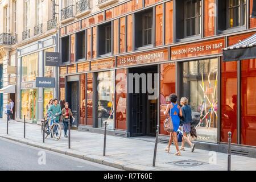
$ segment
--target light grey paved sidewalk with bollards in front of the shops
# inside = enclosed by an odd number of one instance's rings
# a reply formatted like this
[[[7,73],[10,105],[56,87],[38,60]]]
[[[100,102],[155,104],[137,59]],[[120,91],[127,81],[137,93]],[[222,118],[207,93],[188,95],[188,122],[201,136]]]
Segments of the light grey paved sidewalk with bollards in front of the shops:
[[[64,131],[63,131],[64,133]],[[47,138],[43,143],[40,126],[26,124],[26,139],[23,138],[23,123],[11,121],[9,135],[6,135],[6,121],[0,119],[0,137],[25,143],[30,146],[59,152],[65,155],[90,160],[125,170],[189,170],[209,171],[226,170],[228,155],[213,151],[195,150],[190,148],[181,151],[181,156],[174,156],[175,147],[171,147],[171,154],[164,151],[166,144],[158,144],[156,165],[152,167],[155,143],[138,138],[121,138],[107,136],[106,156],[103,156],[104,135],[71,131],[71,149],[68,149],[68,139],[64,134],[58,141]],[[4,146],[1,146],[4,147]],[[214,158],[216,156],[216,158]],[[216,161],[209,164],[209,161]],[[211,162],[212,163],[212,162]],[[232,170],[256,170],[256,159],[232,155]]]

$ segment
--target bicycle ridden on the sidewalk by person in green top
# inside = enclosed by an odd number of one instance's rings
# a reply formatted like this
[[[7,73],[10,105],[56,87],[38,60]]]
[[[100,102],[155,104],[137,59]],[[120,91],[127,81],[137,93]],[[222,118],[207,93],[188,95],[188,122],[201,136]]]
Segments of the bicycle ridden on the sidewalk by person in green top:
[[[49,111],[48,114],[48,117],[46,119],[46,123],[44,124],[44,129],[43,129],[43,123],[44,123],[44,120],[42,119],[42,125],[41,125],[41,132],[42,132],[42,135],[43,135],[43,132],[45,133],[44,134],[44,138],[47,138],[49,134],[52,135],[53,139],[55,140],[59,140],[60,137],[61,137],[61,126],[59,123],[56,123],[55,119],[56,117],[53,115],[52,111]],[[49,122],[53,122],[52,125],[49,124]],[[51,128],[49,129],[49,125],[51,125]]]

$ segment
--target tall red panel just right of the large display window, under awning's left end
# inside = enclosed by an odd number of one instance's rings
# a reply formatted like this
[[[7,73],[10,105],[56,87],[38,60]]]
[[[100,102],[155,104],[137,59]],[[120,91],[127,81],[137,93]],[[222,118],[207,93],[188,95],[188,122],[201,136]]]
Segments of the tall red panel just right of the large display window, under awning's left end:
[[[221,61],[221,142],[237,143],[237,61]]]

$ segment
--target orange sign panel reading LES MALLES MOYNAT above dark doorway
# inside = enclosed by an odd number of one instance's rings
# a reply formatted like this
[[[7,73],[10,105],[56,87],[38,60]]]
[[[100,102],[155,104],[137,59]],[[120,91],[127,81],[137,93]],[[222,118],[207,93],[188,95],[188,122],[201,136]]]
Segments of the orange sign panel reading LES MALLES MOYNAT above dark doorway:
[[[156,50],[135,55],[120,56],[117,59],[117,67],[127,65],[137,65],[146,63],[156,63],[168,60],[168,49]]]

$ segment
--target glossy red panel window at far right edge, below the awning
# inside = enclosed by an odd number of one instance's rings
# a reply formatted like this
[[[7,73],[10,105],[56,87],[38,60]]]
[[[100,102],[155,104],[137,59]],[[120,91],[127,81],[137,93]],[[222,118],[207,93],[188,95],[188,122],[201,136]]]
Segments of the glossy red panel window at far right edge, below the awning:
[[[256,146],[256,60],[241,61],[241,144]]]

